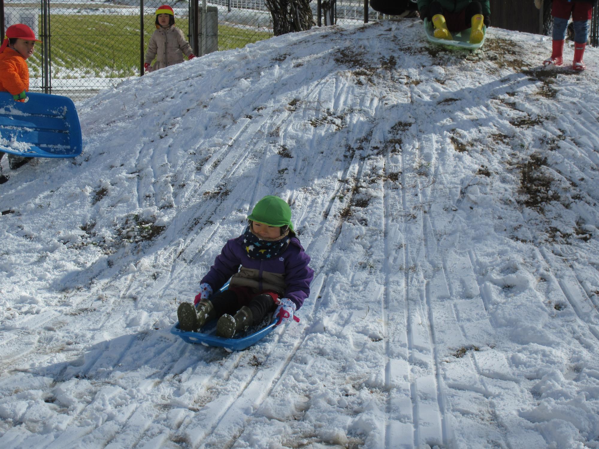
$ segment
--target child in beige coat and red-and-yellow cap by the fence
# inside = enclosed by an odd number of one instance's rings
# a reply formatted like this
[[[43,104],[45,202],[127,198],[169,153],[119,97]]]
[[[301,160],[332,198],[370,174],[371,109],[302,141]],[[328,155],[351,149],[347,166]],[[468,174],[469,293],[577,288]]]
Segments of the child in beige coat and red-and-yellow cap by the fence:
[[[146,58],[144,59],[146,72],[183,62],[183,54],[189,59],[195,57],[189,43],[185,40],[183,31],[174,25],[175,14],[173,8],[168,5],[158,7],[156,10],[157,29],[150,38]],[[155,57],[156,62],[154,65],[150,65]]]

